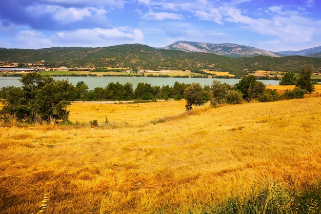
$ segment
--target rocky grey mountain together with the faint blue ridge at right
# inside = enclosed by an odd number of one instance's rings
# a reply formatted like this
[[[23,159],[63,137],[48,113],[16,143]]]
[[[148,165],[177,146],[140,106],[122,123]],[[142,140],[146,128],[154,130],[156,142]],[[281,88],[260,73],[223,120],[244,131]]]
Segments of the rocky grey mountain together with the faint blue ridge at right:
[[[279,51],[272,52],[255,47],[237,45],[232,43],[214,44],[203,42],[188,42],[188,41],[176,41],[173,44],[166,46],[162,49],[166,50],[182,50],[185,52],[204,52],[213,53],[217,55],[229,56],[229,57],[253,57],[257,55],[265,55],[272,57],[281,57],[287,55],[300,55],[310,57],[321,57],[321,46],[309,48],[299,51]]]

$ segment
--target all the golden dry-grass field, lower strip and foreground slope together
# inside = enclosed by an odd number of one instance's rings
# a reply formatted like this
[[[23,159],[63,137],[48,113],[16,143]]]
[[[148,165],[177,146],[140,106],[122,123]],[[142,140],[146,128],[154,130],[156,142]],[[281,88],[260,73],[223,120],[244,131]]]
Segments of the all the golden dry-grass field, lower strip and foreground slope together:
[[[320,183],[318,96],[184,105],[77,103],[73,122],[110,124],[0,127],[0,213],[36,212],[47,192],[46,213],[201,213],[266,182]]]

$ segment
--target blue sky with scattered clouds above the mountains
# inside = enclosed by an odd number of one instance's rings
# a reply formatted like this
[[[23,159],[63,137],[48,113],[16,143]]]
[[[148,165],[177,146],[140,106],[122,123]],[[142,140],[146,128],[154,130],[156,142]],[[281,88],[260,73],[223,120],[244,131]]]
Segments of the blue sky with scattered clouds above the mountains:
[[[175,41],[269,51],[321,46],[319,0],[7,0],[0,47],[106,47]]]

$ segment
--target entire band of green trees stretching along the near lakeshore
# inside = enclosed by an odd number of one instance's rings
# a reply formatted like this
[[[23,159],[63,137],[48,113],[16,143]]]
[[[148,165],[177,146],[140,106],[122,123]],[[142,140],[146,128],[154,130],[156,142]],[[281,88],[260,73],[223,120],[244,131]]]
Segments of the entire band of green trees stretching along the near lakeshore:
[[[293,77],[284,75],[282,83],[293,83]],[[51,76],[42,76],[36,72],[21,77],[22,87],[4,87],[0,91],[3,108],[0,110],[1,119],[6,121],[15,118],[19,121],[35,123],[50,121],[67,121],[68,105],[71,101],[129,101],[155,99],[186,99],[186,110],[192,106],[200,106],[211,102],[213,107],[224,104],[239,104],[243,101],[271,102],[282,99],[303,98],[305,93],[314,90],[311,82],[311,70],[303,69],[296,87],[283,95],[276,90],[266,89],[265,84],[257,81],[255,76],[243,77],[237,84],[231,86],[214,80],[211,86],[202,87],[199,83],[185,84],[175,82],[174,86],[151,86],[148,83],[138,83],[133,89],[131,83],[109,83],[105,88],[96,87],[88,90],[84,82],[73,86],[66,80],[55,81]]]

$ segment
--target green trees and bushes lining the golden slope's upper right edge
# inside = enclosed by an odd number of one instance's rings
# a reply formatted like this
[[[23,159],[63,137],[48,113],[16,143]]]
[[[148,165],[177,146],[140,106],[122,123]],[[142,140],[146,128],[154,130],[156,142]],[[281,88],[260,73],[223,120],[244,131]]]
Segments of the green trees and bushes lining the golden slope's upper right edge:
[[[267,89],[266,85],[256,80],[253,75],[245,76],[235,86],[226,83],[220,83],[214,80],[212,86],[204,87],[198,83],[188,86],[184,92],[186,99],[186,110],[191,110],[192,106],[200,106],[211,101],[213,107],[223,104],[239,104],[244,100],[251,102],[256,99],[259,102],[273,102],[278,100],[288,100],[303,98],[306,93],[314,91],[314,85],[311,82],[311,69],[303,69],[296,77],[293,72],[286,73],[280,83],[284,85],[295,85],[293,90],[287,90],[280,95],[276,89]]]

